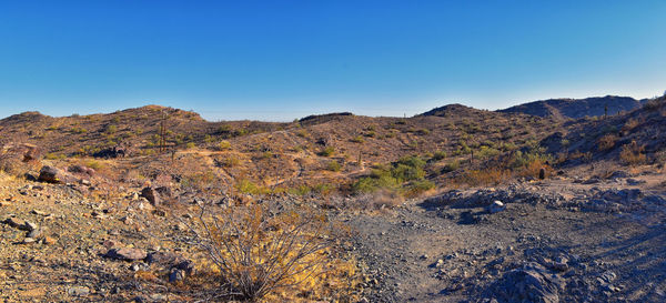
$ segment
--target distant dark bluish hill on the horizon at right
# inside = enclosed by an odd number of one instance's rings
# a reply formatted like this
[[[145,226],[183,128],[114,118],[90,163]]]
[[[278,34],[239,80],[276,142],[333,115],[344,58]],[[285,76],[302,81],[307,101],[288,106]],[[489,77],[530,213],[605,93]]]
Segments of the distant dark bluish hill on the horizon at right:
[[[585,99],[548,99],[524,103],[498,112],[521,112],[538,117],[556,119],[578,119],[583,117],[614,115],[623,111],[639,108],[647,100],[636,100],[629,97],[593,97]],[[606,111],[607,109],[607,111]]]

